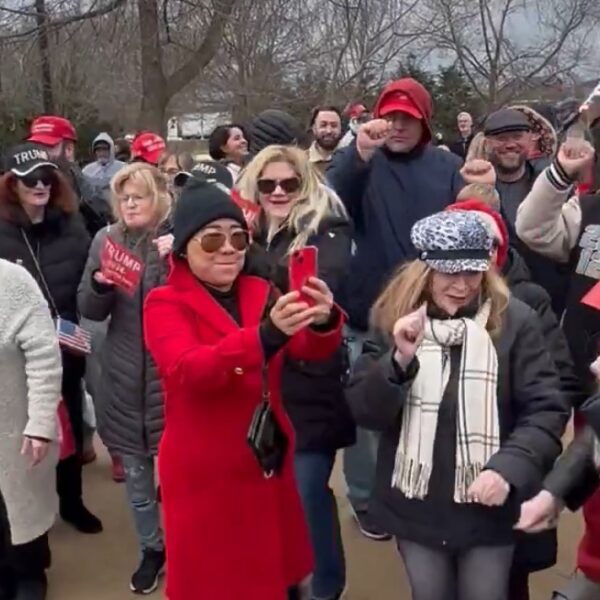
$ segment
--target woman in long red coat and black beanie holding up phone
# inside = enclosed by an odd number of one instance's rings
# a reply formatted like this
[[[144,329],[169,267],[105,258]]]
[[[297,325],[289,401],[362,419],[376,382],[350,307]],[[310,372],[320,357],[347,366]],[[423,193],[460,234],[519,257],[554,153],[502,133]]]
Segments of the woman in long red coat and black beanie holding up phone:
[[[282,350],[323,360],[340,343],[341,315],[318,279],[303,290],[309,307],[298,292],[275,300],[268,281],[244,274],[244,216],[216,186],[187,184],[174,236],[168,284],[150,293],[144,317],[165,390],[158,461],[168,598],[299,597],[312,555],[281,404]],[[267,388],[288,441],[272,477],[247,442]]]

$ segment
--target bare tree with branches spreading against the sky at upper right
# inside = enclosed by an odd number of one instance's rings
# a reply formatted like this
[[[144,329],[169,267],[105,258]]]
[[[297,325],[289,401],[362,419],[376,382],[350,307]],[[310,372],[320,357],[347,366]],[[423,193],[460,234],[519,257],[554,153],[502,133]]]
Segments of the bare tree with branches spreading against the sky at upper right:
[[[582,66],[597,0],[427,0],[429,40],[490,108]]]

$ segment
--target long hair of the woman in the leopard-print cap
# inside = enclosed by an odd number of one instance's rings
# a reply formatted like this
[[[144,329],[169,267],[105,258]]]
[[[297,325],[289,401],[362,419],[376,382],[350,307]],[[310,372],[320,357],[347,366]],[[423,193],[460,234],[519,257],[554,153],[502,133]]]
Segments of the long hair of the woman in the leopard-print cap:
[[[435,271],[421,260],[400,267],[371,310],[371,324],[386,336],[392,336],[394,325],[429,300],[429,286]],[[495,269],[483,274],[482,300],[491,300],[492,308],[487,330],[492,337],[499,335],[502,315],[508,306],[509,291]]]

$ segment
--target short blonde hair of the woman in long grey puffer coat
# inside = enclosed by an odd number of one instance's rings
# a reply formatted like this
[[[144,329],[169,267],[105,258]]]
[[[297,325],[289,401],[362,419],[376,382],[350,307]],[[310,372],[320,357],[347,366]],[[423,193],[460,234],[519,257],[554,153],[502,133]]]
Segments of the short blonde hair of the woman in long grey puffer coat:
[[[129,182],[138,185],[140,193],[152,197],[156,223],[162,223],[171,211],[171,195],[167,187],[167,180],[155,166],[142,162],[123,167],[110,182],[112,209],[119,223],[123,223],[119,198],[123,195],[123,187]]]

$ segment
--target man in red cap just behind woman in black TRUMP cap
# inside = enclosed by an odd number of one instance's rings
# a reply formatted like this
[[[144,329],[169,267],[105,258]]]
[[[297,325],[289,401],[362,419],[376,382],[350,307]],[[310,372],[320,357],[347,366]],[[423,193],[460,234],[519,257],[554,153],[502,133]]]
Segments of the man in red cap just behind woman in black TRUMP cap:
[[[37,117],[31,123],[27,141],[44,146],[48,156],[68,177],[79,198],[81,216],[92,237],[113,220],[112,211],[101,190],[90,185],[77,164],[77,132],[71,121],[54,115]]]

